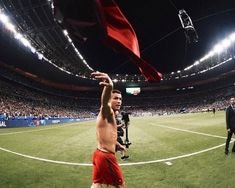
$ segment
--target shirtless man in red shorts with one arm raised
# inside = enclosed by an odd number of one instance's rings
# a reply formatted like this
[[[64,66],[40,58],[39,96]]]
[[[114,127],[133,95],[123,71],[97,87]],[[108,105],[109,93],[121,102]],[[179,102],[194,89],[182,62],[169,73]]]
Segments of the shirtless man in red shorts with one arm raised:
[[[103,86],[100,112],[96,120],[97,150],[93,154],[92,188],[99,188],[102,184],[124,188],[124,178],[115,157],[116,147],[126,150],[117,142],[117,123],[115,111],[120,110],[122,95],[113,90],[110,77],[101,72],[93,72],[92,76],[100,80]]]

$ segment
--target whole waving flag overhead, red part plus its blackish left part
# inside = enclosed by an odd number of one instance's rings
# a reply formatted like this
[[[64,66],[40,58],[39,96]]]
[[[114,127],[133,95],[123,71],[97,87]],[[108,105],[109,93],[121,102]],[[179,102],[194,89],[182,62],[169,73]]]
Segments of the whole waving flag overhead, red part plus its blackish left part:
[[[127,54],[148,81],[161,80],[162,74],[141,59],[135,31],[113,0],[54,0],[54,3],[57,12],[64,16],[64,26],[80,41],[99,37],[109,47]]]

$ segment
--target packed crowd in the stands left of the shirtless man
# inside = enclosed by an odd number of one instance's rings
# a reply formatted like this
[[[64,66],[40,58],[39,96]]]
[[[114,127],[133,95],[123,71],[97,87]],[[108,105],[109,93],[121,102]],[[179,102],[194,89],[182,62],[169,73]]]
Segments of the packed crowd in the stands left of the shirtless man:
[[[77,97],[62,97],[0,80],[0,114],[14,117],[73,117],[91,118],[98,106],[91,108],[87,100]],[[89,100],[91,102],[92,99]],[[98,104],[97,104],[98,105]]]

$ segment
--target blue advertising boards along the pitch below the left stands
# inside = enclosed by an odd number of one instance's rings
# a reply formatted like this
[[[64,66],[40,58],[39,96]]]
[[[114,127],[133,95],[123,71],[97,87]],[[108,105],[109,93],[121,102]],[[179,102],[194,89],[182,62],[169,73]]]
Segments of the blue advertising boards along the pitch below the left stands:
[[[12,128],[12,127],[35,127],[44,126],[49,124],[63,124],[79,121],[92,120],[94,118],[48,118],[48,119],[36,119],[36,118],[11,118],[1,119],[0,128]]]

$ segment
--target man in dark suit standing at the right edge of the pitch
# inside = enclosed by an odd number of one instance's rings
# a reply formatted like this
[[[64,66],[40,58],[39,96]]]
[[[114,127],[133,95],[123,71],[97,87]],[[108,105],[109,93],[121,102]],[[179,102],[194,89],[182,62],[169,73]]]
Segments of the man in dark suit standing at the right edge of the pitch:
[[[235,98],[231,97],[229,103],[230,105],[226,109],[227,140],[225,145],[225,155],[229,154],[229,143],[232,135],[235,134]],[[235,143],[232,152],[235,153]]]

